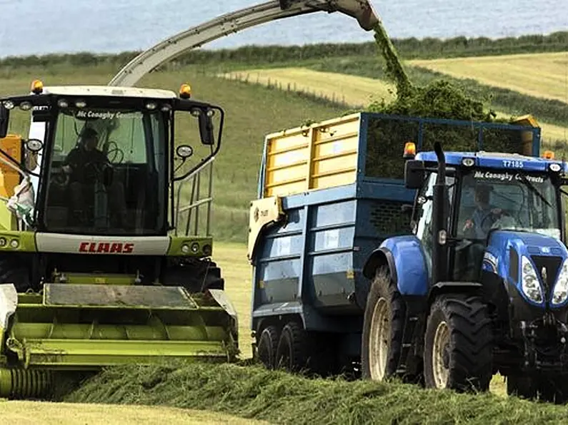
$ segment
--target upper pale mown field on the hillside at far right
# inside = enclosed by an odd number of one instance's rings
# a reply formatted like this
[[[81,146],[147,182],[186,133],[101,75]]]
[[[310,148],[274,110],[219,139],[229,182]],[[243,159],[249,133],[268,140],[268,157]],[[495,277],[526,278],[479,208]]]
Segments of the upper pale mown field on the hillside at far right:
[[[488,86],[568,103],[568,51],[407,63],[455,78],[474,78]]]

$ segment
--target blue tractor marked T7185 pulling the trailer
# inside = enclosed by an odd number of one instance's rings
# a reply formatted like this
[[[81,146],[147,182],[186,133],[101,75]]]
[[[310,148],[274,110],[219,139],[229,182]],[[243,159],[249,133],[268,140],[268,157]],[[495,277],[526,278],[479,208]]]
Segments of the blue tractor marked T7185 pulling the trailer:
[[[429,388],[568,401],[563,161],[504,153],[404,153],[412,233],[385,239],[372,281],[362,374]]]

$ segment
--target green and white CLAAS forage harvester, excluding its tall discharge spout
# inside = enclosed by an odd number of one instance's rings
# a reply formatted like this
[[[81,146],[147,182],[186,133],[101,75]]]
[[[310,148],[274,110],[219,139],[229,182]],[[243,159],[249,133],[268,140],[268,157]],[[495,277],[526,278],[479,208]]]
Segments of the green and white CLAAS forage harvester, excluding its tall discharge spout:
[[[58,369],[234,359],[209,232],[223,120],[187,85],[34,81],[0,99],[0,396],[34,395]]]

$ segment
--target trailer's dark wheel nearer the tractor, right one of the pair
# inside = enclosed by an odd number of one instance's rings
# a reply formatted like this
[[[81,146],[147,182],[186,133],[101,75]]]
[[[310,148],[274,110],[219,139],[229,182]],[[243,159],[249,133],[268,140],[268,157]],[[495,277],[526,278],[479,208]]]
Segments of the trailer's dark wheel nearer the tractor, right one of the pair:
[[[286,324],[276,348],[276,367],[282,367],[289,372],[307,369],[308,344],[307,332],[302,325],[297,322]]]

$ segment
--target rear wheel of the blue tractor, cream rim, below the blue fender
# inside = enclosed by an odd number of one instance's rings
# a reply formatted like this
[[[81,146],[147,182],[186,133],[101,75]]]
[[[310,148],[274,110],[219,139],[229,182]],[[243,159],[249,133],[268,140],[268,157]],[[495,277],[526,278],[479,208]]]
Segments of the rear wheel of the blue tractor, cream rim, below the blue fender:
[[[384,381],[399,366],[406,306],[387,268],[380,268],[369,290],[363,319],[361,372],[364,379]]]

